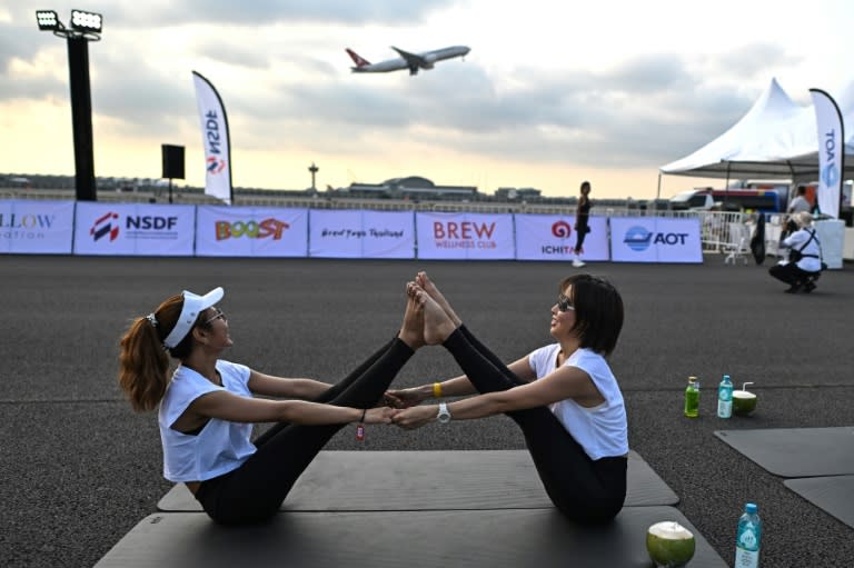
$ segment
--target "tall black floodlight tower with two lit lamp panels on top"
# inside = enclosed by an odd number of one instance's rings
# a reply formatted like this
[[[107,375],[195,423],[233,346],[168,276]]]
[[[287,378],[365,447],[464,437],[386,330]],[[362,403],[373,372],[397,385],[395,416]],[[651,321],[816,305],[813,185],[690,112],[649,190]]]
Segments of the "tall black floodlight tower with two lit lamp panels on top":
[[[75,137],[77,199],[96,201],[95,152],[92,150],[92,97],[89,89],[89,41],[100,41],[103,18],[100,13],[71,10],[71,27],[59,21],[53,10],[38,10],[36,20],[42,31],[52,31],[68,42],[68,69],[71,83],[71,123]]]

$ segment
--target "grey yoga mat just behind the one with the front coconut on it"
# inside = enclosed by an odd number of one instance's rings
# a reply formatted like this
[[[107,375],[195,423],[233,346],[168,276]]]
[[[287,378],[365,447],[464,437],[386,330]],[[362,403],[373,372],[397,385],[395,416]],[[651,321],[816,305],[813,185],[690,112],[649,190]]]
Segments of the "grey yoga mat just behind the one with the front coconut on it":
[[[628,457],[626,506],[676,505],[676,494],[636,452]],[[550,508],[525,450],[321,451],[294,485],[282,510],[463,510]],[[200,511],[183,484],[161,511]]]

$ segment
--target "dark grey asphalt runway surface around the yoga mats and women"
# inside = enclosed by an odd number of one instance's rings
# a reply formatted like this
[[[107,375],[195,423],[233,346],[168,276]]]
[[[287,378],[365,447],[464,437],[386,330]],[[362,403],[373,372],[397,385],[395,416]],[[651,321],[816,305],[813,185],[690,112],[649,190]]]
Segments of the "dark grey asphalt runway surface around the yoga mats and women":
[[[713,436],[718,429],[852,426],[854,270],[810,296],[783,293],[765,267],[588,265],[620,290],[626,321],[610,358],[629,444],[679,496],[678,509],[732,565],[746,501],[764,521],[762,565],[854,565],[854,529],[815,508]],[[92,566],[169,490],[157,417],[137,415],[116,375],[131,318],[182,289],[226,289],[235,346],[264,372],[334,381],[393,337],[405,282],[426,269],[468,327],[513,360],[549,341],[558,262],[0,257],[0,566]],[[752,417],[715,417],[722,373],[759,397]],[[458,373],[420,350],[395,385]],[[701,417],[683,416],[689,375]],[[345,429],[327,449],[522,449],[506,417],[420,430]],[[797,456],[793,456],[797,459]],[[471,475],[477,475],[473,471]],[[394,487],[388,488],[394,491]],[[380,496],[378,496],[380,497]]]

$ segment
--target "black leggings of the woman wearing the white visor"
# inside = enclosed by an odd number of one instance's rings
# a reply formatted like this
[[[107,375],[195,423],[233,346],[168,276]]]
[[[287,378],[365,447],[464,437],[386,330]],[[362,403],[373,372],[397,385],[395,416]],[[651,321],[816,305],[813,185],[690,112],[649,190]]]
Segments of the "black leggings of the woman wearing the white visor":
[[[373,407],[413,352],[395,338],[315,401]],[[258,450],[239,468],[202,481],[196,499],[211,519],[224,525],[268,519],[278,511],[315,456],[344,426],[279,422],[255,440]]]

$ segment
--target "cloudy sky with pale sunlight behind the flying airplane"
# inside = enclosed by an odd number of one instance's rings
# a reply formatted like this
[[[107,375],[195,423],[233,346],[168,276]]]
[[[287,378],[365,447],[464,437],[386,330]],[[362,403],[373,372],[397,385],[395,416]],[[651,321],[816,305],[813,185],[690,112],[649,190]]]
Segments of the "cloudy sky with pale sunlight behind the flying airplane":
[[[668,198],[723,180],[658,169],[733,126],[776,78],[790,97],[854,80],[854,2],[768,0],[0,0],[0,172],[73,175],[69,23],[89,43],[98,177],[159,178],[161,145],[205,183],[192,71],[217,88],[235,187],[318,189],[423,176],[437,185]],[[351,73],[390,46],[471,51],[410,77]],[[177,183],[181,181],[176,180]]]

